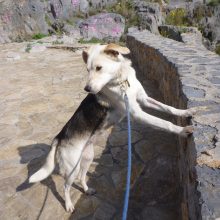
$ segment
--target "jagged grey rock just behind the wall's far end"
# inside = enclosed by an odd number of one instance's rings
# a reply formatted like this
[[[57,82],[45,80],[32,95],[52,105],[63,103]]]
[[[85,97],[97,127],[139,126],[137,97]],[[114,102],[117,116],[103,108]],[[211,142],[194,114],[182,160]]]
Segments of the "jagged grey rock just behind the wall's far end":
[[[159,34],[158,25],[163,23],[161,7],[158,3],[134,1],[135,8],[140,17],[140,26],[154,34]]]

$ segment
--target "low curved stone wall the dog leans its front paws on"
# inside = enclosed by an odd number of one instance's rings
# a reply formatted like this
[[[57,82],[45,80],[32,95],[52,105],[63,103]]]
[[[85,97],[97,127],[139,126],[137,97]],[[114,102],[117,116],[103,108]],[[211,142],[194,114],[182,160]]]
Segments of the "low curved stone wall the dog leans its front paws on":
[[[157,83],[167,104],[198,108],[194,134],[179,139],[182,219],[220,218],[220,58],[193,43],[130,30],[127,37],[142,77]]]

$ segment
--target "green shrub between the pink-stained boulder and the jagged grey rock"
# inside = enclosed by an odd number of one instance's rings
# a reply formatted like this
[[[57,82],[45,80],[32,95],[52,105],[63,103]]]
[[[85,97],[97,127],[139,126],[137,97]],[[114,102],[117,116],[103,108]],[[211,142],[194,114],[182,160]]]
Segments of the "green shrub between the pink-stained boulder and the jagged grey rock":
[[[140,23],[140,18],[131,0],[120,0],[117,4],[107,8],[107,11],[118,13],[125,18],[125,32],[129,27],[138,26]]]

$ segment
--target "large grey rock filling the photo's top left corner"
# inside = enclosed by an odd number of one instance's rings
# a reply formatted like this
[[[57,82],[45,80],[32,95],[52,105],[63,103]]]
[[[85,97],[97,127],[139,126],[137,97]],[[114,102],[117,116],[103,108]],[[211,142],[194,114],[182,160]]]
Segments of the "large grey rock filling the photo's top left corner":
[[[47,33],[45,5],[41,1],[0,2],[0,43],[22,39],[33,33]]]

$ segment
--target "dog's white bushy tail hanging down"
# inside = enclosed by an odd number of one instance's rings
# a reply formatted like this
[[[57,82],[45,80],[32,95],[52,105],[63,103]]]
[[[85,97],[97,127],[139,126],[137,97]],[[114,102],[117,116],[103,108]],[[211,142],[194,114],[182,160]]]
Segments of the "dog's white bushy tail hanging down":
[[[51,145],[50,152],[47,155],[45,164],[40,168],[40,170],[30,176],[29,183],[35,183],[44,180],[53,172],[55,168],[55,153],[57,145],[58,140],[54,139]]]

